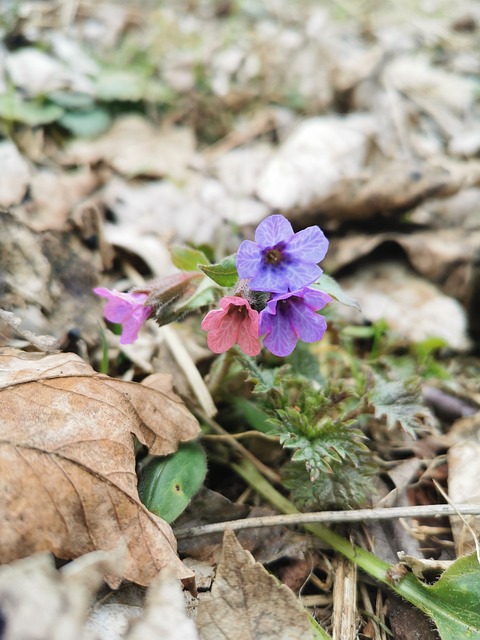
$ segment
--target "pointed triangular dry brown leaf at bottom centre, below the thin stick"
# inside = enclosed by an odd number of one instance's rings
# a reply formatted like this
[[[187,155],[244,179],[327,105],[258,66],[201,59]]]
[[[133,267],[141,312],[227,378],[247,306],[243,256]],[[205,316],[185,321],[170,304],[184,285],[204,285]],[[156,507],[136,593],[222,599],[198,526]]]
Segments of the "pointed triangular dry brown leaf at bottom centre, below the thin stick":
[[[306,612],[294,594],[255,562],[229,529],[211,595],[198,605],[197,626],[204,640],[312,637]]]

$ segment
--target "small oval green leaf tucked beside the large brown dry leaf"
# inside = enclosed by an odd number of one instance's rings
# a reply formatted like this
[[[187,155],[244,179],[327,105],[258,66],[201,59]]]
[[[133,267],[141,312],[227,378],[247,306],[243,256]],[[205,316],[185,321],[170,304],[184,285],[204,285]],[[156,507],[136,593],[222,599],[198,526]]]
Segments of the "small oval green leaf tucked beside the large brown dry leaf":
[[[138,486],[140,499],[149,511],[173,522],[201,488],[206,473],[205,452],[198,442],[188,442],[148,462]]]

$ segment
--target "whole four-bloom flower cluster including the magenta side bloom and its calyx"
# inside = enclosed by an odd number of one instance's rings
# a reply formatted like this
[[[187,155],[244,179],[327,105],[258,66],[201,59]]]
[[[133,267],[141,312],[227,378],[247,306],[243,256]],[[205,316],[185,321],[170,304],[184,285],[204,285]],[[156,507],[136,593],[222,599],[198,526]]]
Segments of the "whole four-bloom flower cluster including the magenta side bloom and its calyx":
[[[317,226],[295,233],[282,215],[263,220],[255,241],[244,240],[238,249],[239,279],[235,276],[233,293],[224,296],[220,308],[209,311],[202,321],[210,349],[223,353],[238,344],[244,353],[255,356],[263,339],[273,354],[287,356],[298,340],[321,340],[326,322],[317,311],[332,298],[312,285],[322,274],[318,262],[327,249],[328,240]],[[199,266],[207,275],[215,267]],[[105,288],[94,292],[108,300],[105,318],[122,324],[120,343],[128,344],[137,339],[147,318],[154,317],[161,325],[202,306],[201,296],[197,306],[192,306],[194,284],[201,278],[198,271],[178,273],[130,293]]]

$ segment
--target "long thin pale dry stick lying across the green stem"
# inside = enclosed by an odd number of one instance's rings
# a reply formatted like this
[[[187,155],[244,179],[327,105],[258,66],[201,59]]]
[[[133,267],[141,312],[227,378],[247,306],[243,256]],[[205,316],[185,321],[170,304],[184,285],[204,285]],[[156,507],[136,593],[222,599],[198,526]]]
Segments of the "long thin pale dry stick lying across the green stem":
[[[234,441],[236,442],[236,441]],[[236,444],[239,444],[236,442]],[[243,520],[230,520],[217,522],[200,527],[177,529],[175,536],[190,538],[204,536],[210,533],[218,533],[231,527],[234,531],[239,529],[254,529],[256,527],[276,527],[278,525],[303,525],[316,522],[361,522],[365,520],[393,520],[395,518],[425,518],[454,515],[480,515],[480,504],[462,504],[451,506],[449,504],[418,505],[414,507],[390,507],[388,509],[352,509],[351,511],[321,511],[316,513],[293,513],[290,515],[263,516],[258,518],[245,518]]]

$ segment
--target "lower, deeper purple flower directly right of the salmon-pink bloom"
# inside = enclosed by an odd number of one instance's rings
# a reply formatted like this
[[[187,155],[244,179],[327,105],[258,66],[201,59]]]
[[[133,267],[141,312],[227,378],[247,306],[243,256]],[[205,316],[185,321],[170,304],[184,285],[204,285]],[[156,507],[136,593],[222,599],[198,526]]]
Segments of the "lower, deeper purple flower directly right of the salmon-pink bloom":
[[[288,356],[297,340],[321,340],[327,323],[318,313],[332,298],[318,289],[303,287],[275,296],[260,313],[263,344],[276,356]]]

